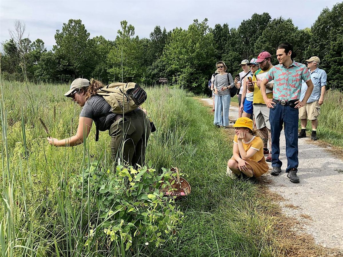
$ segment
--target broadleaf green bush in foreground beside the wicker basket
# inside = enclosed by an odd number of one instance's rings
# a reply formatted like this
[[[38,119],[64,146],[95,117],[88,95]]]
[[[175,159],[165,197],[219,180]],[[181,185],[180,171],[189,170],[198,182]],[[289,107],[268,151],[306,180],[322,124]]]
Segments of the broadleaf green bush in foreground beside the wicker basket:
[[[151,163],[149,167],[136,170],[132,166],[118,165],[112,172],[99,168],[98,161],[94,161],[83,171],[83,178],[80,174],[72,175],[73,196],[76,199],[89,197],[91,215],[96,217],[90,222],[85,246],[96,241],[91,240],[95,234],[100,240],[105,237],[108,246],[121,242],[125,251],[134,239],[135,244],[153,243],[154,247],[159,247],[167,239],[176,237],[185,216],[176,207],[173,197],[159,191],[161,182],[172,178],[173,172],[162,168],[162,174],[158,174]],[[82,190],[82,185],[87,188]],[[93,222],[96,227],[92,226]],[[103,231],[103,234],[94,231]]]

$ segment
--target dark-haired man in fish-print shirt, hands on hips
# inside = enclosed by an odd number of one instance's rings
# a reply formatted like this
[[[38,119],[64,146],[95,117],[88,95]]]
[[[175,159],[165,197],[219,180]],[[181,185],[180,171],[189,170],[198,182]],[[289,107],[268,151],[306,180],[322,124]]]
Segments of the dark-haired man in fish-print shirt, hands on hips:
[[[299,183],[298,171],[298,115],[299,108],[306,105],[310,97],[313,84],[311,76],[304,64],[294,61],[296,54],[293,47],[283,43],[277,47],[276,58],[278,65],[273,66],[261,82],[261,94],[265,104],[271,108],[269,121],[272,134],[272,171],[271,175],[279,175],[282,162],[280,155],[280,133],[285,127],[287,177],[293,183]],[[273,99],[265,93],[265,85],[274,79]],[[301,80],[307,84],[307,90],[302,101],[300,98]]]

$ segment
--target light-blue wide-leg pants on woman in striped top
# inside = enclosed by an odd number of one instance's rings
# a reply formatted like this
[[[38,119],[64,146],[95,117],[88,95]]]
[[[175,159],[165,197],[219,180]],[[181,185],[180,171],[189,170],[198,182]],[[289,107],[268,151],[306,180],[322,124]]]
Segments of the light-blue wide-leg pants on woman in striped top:
[[[229,125],[229,108],[231,96],[215,96],[214,99],[214,125],[228,126]]]

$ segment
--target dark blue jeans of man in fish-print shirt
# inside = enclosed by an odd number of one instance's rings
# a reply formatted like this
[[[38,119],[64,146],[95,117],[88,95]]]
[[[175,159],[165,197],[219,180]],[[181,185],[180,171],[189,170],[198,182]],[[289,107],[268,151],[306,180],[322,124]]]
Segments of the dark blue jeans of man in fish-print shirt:
[[[275,104],[269,112],[269,121],[272,134],[272,167],[281,167],[280,132],[285,124],[287,168],[298,168],[298,118],[299,110],[289,105]]]

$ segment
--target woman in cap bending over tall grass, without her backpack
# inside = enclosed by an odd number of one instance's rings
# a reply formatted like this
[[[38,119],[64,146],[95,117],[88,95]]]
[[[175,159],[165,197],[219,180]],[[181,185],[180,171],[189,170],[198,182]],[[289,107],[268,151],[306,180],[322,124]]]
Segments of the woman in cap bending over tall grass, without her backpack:
[[[72,137],[58,140],[48,137],[48,141],[54,146],[80,145],[88,137],[93,120],[100,131],[109,130],[111,136],[111,153],[114,160],[120,157],[122,160],[135,167],[136,164],[144,165],[145,149],[149,139],[151,126],[146,113],[137,108],[125,114],[112,113],[112,107],[104,97],[97,94],[97,90],[103,84],[95,79],[77,78],[70,86],[70,90],[64,94],[72,101],[83,107],[80,113],[79,125],[76,134]],[[121,149],[123,146],[123,154]]]

